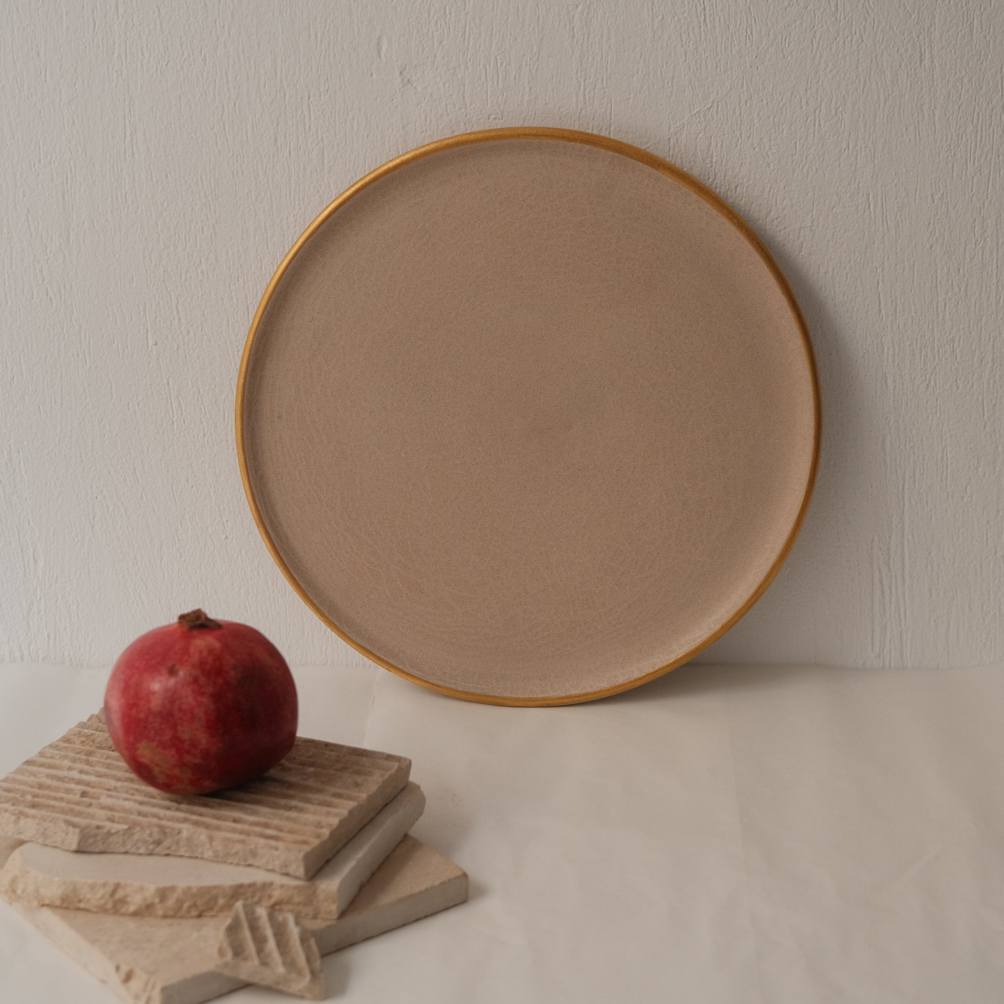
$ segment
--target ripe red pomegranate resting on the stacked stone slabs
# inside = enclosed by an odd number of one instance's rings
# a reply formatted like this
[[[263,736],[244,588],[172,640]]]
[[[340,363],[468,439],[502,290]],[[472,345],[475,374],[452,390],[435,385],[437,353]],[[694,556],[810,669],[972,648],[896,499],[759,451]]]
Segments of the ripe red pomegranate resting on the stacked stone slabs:
[[[133,773],[205,794],[274,767],[296,737],[296,685],[260,632],[202,610],[138,638],[111,670],[104,720]]]

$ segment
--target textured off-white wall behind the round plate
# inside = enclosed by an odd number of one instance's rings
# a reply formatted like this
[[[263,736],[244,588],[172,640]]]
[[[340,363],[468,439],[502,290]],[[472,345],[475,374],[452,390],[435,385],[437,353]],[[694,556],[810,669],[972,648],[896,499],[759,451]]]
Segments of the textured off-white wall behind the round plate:
[[[5,0],[0,659],[109,661],[197,604],[361,658],[247,510],[244,336],[349,183],[529,123],[717,189],[815,339],[815,502],[705,658],[1004,660],[1002,39],[994,0]]]

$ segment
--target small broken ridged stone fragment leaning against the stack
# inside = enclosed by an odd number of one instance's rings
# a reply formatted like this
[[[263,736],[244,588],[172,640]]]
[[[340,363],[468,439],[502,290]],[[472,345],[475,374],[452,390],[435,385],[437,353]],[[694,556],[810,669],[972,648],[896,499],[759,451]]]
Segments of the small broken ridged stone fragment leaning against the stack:
[[[324,999],[324,974],[314,936],[292,914],[239,903],[223,929],[217,971],[270,990]]]

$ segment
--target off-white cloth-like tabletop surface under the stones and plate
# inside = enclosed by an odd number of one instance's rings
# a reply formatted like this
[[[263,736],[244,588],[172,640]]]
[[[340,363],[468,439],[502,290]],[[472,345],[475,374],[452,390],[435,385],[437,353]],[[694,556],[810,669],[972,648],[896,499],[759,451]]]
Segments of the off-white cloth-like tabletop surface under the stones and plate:
[[[0,773],[106,676],[0,668]],[[414,832],[471,875],[469,903],[329,957],[332,998],[1004,999],[1004,666],[692,666],[526,710],[375,668],[295,676],[303,735],[412,757]],[[0,1000],[114,999],[0,904]]]

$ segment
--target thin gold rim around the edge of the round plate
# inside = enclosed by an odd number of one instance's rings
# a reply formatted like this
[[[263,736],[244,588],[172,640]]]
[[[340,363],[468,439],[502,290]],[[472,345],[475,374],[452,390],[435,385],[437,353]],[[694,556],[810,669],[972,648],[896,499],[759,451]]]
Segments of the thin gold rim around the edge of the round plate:
[[[767,269],[773,276],[774,281],[784,294],[784,298],[787,301],[788,306],[791,308],[791,313],[795,318],[796,324],[798,325],[798,331],[802,339],[802,346],[805,350],[805,359],[808,363],[809,376],[812,382],[812,404],[814,413],[812,460],[809,464],[808,477],[805,481],[805,490],[802,494],[802,501],[798,508],[798,513],[795,516],[791,530],[784,541],[784,545],[781,547],[781,550],[774,559],[773,564],[771,564],[768,569],[767,574],[760,581],[760,584],[753,590],[753,593],[749,596],[749,598],[739,607],[738,610],[736,610],[735,613],[732,614],[732,616],[730,616],[723,624],[713,631],[707,638],[701,641],[698,645],[694,646],[680,658],[673,660],[671,663],[667,663],[658,670],[646,673],[641,677],[636,677],[634,680],[629,680],[624,683],[616,684],[613,687],[604,688],[603,690],[587,691],[582,694],[564,694],[559,697],[544,698],[499,697],[492,694],[478,694],[473,691],[462,691],[456,690],[452,687],[442,687],[439,684],[423,680],[422,677],[417,677],[415,674],[409,673],[406,670],[395,666],[393,663],[389,663],[386,659],[382,659],[375,653],[370,652],[364,646],[359,645],[358,642],[339,628],[326,613],[324,613],[323,610],[317,606],[310,596],[307,595],[303,586],[299,583],[296,576],[289,569],[289,566],[282,559],[282,555],[279,553],[278,548],[275,545],[275,541],[272,539],[271,534],[268,532],[268,528],[265,526],[265,522],[262,519],[258,503],[254,497],[254,491],[251,488],[251,480],[248,476],[247,456],[244,447],[244,396],[247,386],[247,371],[249,359],[251,357],[251,346],[254,344],[255,335],[258,331],[258,325],[261,323],[261,318],[265,312],[265,308],[268,306],[268,302],[271,299],[272,294],[275,292],[276,286],[278,286],[292,260],[297,254],[299,254],[306,242],[310,240],[310,238],[320,229],[321,226],[323,226],[324,223],[327,222],[331,216],[344,206],[349,199],[357,195],[363,189],[372,185],[373,182],[379,181],[381,178],[397,171],[399,168],[407,167],[409,164],[413,164],[415,161],[419,161],[424,157],[430,157],[433,154],[438,154],[445,150],[452,150],[456,147],[466,147],[475,143],[493,143],[497,140],[553,140],[559,143],[578,143],[588,147],[599,147],[602,150],[608,150],[614,154],[620,154],[633,161],[638,161],[641,164],[645,164],[648,167],[653,168],[655,171],[658,171],[667,178],[678,182],[680,185],[683,185],[684,188],[689,189],[695,195],[703,199],[709,206],[712,207],[712,209],[724,216],[725,219],[728,220],[729,223],[731,223],[736,230],[738,230],[743,237],[746,238],[756,253],[760,256],[763,263],[767,266]],[[244,483],[244,493],[247,496],[248,505],[251,507],[251,514],[258,527],[258,532],[265,541],[273,560],[279,566],[282,574],[286,576],[289,584],[296,590],[300,599],[302,599],[303,602],[306,603],[306,605],[325,624],[327,624],[327,626],[330,628],[335,635],[338,636],[338,638],[340,638],[347,645],[350,645],[356,652],[361,653],[366,657],[366,659],[372,661],[378,666],[382,666],[385,670],[390,670],[391,673],[395,673],[399,677],[404,677],[405,680],[410,680],[412,683],[418,684],[420,687],[427,687],[430,690],[438,691],[440,694],[446,694],[448,697],[460,698],[464,701],[474,701],[479,704],[495,704],[520,708],[539,708],[554,707],[565,704],[579,704],[585,701],[595,701],[598,698],[610,697],[613,694],[620,694],[623,691],[633,690],[635,687],[641,687],[643,684],[656,680],[657,678],[669,673],[671,670],[675,670],[678,666],[682,666],[684,663],[692,660],[695,656],[707,649],[713,642],[718,641],[718,639],[720,639],[750,610],[753,604],[763,595],[767,586],[770,585],[771,581],[773,581],[774,576],[780,570],[781,565],[784,564],[785,559],[791,552],[791,548],[794,546],[795,539],[797,538],[798,532],[802,527],[802,523],[805,521],[805,514],[808,511],[809,502],[812,498],[812,490],[815,487],[816,473],[819,469],[819,445],[822,432],[822,403],[819,392],[819,373],[816,368],[815,353],[812,349],[812,340],[809,337],[808,327],[805,323],[805,318],[802,315],[801,308],[798,306],[798,301],[795,299],[795,294],[792,292],[791,287],[788,285],[788,280],[784,277],[784,273],[781,271],[777,262],[774,261],[771,253],[767,250],[763,241],[760,240],[760,238],[753,231],[753,228],[731,206],[729,206],[725,200],[723,200],[707,186],[702,185],[696,178],[687,174],[686,171],[678,168],[675,164],[671,164],[669,161],[664,161],[662,158],[656,157],[654,154],[650,154],[648,151],[642,150],[639,147],[633,147],[631,144],[621,143],[618,140],[611,140],[608,137],[598,136],[594,133],[579,133],[574,130],[548,129],[545,127],[515,127],[511,129],[482,130],[476,133],[462,133],[459,136],[448,137],[445,140],[437,140],[435,143],[429,143],[423,147],[417,147],[415,150],[409,151],[407,154],[402,154],[400,157],[396,157],[393,161],[388,161],[387,164],[376,168],[375,171],[369,172],[369,174],[364,178],[361,178],[354,185],[345,189],[345,191],[342,192],[337,199],[330,203],[320,213],[310,226],[303,231],[296,243],[289,249],[286,256],[282,259],[279,267],[275,270],[275,274],[265,287],[265,292],[258,304],[258,309],[255,311],[254,318],[251,321],[251,328],[248,331],[247,340],[244,343],[244,353],[241,356],[241,365],[237,374],[235,422],[237,433],[237,458],[240,463],[241,481]]]

